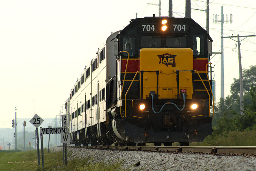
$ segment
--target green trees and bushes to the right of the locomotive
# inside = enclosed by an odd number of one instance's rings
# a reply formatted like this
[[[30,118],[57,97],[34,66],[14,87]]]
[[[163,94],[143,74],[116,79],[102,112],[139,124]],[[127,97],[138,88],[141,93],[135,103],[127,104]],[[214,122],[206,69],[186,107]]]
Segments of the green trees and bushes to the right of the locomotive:
[[[231,131],[249,131],[256,129],[256,66],[243,69],[244,109],[240,114],[240,84],[234,78],[230,87],[231,95],[220,98],[214,107],[212,119],[213,135]]]

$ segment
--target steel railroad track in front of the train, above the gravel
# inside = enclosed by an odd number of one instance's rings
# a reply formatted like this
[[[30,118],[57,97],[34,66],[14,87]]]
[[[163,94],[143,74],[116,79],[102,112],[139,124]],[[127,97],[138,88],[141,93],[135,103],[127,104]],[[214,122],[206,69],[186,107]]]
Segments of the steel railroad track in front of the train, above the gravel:
[[[68,146],[71,148],[145,150],[177,153],[209,153],[256,156],[256,146]]]

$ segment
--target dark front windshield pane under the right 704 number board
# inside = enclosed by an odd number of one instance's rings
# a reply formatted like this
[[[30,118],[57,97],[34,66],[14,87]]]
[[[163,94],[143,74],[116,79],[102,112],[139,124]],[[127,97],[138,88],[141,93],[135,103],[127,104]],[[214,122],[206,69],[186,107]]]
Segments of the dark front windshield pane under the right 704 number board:
[[[171,37],[167,36],[165,39],[165,45],[169,47],[186,47],[187,41],[186,36],[182,37]]]

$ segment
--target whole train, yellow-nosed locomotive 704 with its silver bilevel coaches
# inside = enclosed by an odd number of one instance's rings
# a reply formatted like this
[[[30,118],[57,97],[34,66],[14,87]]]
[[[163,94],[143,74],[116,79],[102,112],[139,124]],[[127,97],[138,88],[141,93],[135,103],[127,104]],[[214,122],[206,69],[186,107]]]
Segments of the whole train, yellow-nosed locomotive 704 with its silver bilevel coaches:
[[[131,19],[70,91],[71,144],[184,146],[212,135],[211,42],[191,18]]]

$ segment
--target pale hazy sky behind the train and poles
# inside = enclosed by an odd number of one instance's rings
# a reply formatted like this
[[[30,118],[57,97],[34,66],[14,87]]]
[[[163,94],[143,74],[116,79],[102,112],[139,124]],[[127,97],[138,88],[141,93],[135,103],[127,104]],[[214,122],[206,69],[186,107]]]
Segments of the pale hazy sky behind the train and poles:
[[[231,4],[232,2],[232,4]],[[0,128],[11,128],[12,119],[54,118],[62,110],[71,87],[87,62],[95,57],[111,32],[121,30],[130,19],[158,16],[158,0],[0,0]],[[224,36],[253,35],[256,32],[255,0],[210,0],[210,35],[214,52],[220,51],[221,5],[226,20]],[[206,9],[206,0],[191,0],[191,8]],[[185,13],[185,0],[173,0],[173,11]],[[161,16],[168,16],[168,0],[161,1]],[[206,26],[206,13],[192,10],[193,18]],[[235,38],[235,40],[237,40]],[[241,39],[240,39],[241,40]],[[241,42],[242,68],[256,65],[256,37]],[[233,78],[239,77],[237,44],[224,39],[225,96]],[[236,48],[236,49],[234,49]],[[232,50],[234,49],[234,50]],[[213,57],[213,55],[212,55]],[[220,99],[220,55],[212,58],[216,100]],[[30,124],[30,123],[27,123]]]

